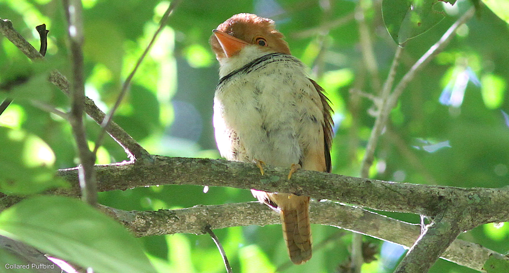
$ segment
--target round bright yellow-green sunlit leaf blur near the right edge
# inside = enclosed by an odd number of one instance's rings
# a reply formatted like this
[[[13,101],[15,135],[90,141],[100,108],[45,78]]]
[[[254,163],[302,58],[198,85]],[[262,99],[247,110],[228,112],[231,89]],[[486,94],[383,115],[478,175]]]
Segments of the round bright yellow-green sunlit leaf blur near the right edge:
[[[504,100],[505,79],[494,74],[486,74],[483,75],[480,82],[480,92],[483,95],[484,105],[490,109],[500,107]]]

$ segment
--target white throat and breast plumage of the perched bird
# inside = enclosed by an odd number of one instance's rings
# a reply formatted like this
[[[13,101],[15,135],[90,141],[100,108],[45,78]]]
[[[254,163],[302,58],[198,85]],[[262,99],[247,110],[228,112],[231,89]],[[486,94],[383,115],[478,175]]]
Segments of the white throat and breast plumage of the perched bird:
[[[219,75],[224,77],[265,54],[258,46],[247,46],[220,63]],[[289,167],[299,163],[309,145],[320,143],[322,110],[301,63],[272,62],[234,75],[216,89],[214,97],[217,146],[229,160],[257,159]]]

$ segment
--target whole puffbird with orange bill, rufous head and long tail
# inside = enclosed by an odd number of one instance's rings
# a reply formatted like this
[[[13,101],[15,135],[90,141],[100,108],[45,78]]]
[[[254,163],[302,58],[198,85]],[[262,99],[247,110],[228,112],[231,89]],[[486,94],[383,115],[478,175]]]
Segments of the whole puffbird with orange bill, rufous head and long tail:
[[[274,21],[241,13],[210,39],[219,61],[214,129],[228,160],[330,172],[331,108],[323,89],[290,54]],[[309,197],[251,190],[281,216],[290,259],[311,258]]]

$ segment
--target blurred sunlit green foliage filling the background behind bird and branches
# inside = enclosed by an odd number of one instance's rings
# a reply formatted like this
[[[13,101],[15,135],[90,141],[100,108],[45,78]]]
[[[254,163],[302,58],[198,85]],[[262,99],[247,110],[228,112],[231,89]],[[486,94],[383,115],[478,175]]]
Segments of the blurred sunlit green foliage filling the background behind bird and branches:
[[[386,78],[397,46],[394,40],[406,41],[396,75],[399,80],[471,6],[466,0],[454,6],[405,1],[425,7],[410,12],[408,6],[394,8],[395,3],[400,2],[182,1],[136,73],[114,120],[152,154],[218,158],[211,124],[218,65],[208,39],[212,29],[233,14],[257,13],[276,21],[292,53],[311,68],[312,78],[326,89],[334,109],[333,172],[358,175],[374,122],[369,111],[373,102],[360,94],[378,94],[377,81],[383,83]],[[123,80],[150,41],[168,4],[155,0],[83,1],[86,93],[104,111],[114,104]],[[479,3],[477,15],[458,29],[446,49],[406,88],[379,142],[373,177],[456,187],[508,185],[509,121],[504,115],[507,117],[509,111],[505,95],[509,28],[507,9],[497,8],[501,5],[506,1]],[[425,20],[430,9],[443,11],[443,19],[419,24],[416,18],[423,16]],[[10,93],[0,92],[0,99],[14,97],[0,116],[0,191],[34,193],[60,186],[61,181],[51,176],[54,170],[76,166],[71,129],[64,119],[34,107],[31,100],[69,110],[69,99],[44,80],[55,68],[68,78],[71,75],[61,2],[0,0],[0,18],[10,19],[36,48],[39,42],[35,26],[45,23],[50,31],[46,65],[32,64],[0,36],[0,85],[29,78]],[[384,20],[390,22],[389,31]],[[359,31],[362,24],[367,26],[369,40]],[[367,42],[375,56],[377,73],[367,69],[366,52],[361,46]],[[99,126],[88,118],[86,127],[92,144]],[[123,160],[127,160],[123,149],[115,141],[105,140],[98,163]],[[204,193],[196,186],[100,193],[100,203],[126,210],[250,200],[249,191],[211,188]],[[419,221],[415,215],[384,214]],[[73,215],[67,217],[71,220]],[[286,265],[287,251],[279,225],[234,227],[217,230],[216,234],[236,272],[267,272],[279,267],[286,268],[285,272],[336,272],[348,258],[351,239],[350,234],[327,239],[336,232],[333,227],[314,225],[315,245],[328,241],[315,249],[308,263],[290,267]],[[508,234],[507,225],[490,224],[460,238],[507,253]],[[175,234],[137,240],[160,272],[224,271],[221,257],[207,235]],[[374,238],[365,240],[381,245]],[[389,248],[387,244],[381,246]],[[401,250],[383,251],[376,255],[378,260],[364,265],[363,272],[391,272],[401,254]],[[439,260],[431,272],[475,271]]]

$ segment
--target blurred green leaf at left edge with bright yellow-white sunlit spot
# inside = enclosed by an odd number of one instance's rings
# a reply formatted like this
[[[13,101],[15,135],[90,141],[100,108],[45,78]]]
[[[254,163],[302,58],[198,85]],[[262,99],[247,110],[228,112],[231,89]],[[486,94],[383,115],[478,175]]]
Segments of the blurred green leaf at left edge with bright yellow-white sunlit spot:
[[[3,193],[34,194],[68,186],[55,176],[53,151],[39,137],[0,127],[0,141],[0,191]]]

